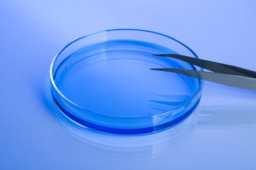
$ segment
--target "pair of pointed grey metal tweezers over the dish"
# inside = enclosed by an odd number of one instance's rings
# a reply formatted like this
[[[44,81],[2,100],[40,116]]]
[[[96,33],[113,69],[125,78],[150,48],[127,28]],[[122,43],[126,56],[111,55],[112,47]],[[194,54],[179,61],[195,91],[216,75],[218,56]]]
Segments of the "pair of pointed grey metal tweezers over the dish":
[[[232,86],[235,88],[244,88],[247,90],[256,91],[256,72],[233,65],[227,65],[223,63],[216,63],[213,61],[207,61],[204,59],[190,58],[188,56],[182,56],[178,54],[157,54],[154,56],[162,56],[169,58],[181,59],[192,65],[197,65],[204,69],[213,72],[195,71],[186,69],[152,69],[158,71],[169,71],[178,73],[181,75],[192,76],[195,78],[201,78],[210,82],[216,82],[226,86]]]

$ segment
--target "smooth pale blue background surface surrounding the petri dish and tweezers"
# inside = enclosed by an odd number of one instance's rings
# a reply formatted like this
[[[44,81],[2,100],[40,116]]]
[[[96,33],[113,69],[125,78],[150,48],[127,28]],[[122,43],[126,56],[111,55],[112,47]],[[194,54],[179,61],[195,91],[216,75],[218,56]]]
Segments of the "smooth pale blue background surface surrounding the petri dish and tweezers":
[[[154,135],[81,129],[54,113],[49,67],[68,42],[148,29],[200,58],[256,70],[256,1],[0,1],[0,169],[256,169],[256,92],[205,82],[194,116]]]

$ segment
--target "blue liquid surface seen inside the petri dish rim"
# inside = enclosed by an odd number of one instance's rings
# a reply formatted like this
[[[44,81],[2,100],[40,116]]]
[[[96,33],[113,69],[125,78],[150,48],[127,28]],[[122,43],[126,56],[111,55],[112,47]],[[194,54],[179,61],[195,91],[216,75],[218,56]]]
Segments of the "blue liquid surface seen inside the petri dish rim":
[[[194,69],[152,54],[175,53],[142,41],[106,41],[68,56],[54,73],[56,86],[84,109],[109,116],[149,116],[184,103],[198,80],[150,68]]]

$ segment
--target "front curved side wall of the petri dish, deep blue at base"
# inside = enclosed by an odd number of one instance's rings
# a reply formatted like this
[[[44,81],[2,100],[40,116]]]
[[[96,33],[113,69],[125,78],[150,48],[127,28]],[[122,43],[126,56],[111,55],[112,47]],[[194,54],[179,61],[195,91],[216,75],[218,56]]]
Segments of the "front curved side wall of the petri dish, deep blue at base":
[[[58,96],[57,93],[54,93],[53,90],[52,94],[54,103],[58,109],[81,126],[108,133],[140,134],[161,131],[186,120],[200,103],[202,91],[191,101],[191,103],[187,103],[187,105],[179,107],[175,111],[172,110],[168,114],[137,118],[122,118],[97,114],[91,116],[90,112],[86,113],[84,110],[74,108],[70,103],[64,101],[62,97]]]

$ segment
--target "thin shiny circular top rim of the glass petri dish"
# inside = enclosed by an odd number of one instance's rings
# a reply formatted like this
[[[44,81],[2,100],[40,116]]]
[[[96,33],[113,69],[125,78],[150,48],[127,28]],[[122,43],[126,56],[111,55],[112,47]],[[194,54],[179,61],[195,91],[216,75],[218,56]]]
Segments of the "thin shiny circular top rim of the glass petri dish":
[[[157,33],[157,32],[154,32],[154,31],[148,31],[148,30],[144,30],[144,29],[127,29],[127,28],[122,28],[122,29],[106,29],[106,30],[102,30],[102,31],[97,31],[95,33],[90,33],[90,34],[87,34],[87,35],[84,35],[83,37],[79,37],[78,39],[75,39],[74,41],[68,43],[66,46],[64,46],[64,48],[62,48],[62,50],[60,50],[53,58],[53,61],[51,62],[51,66],[50,66],[50,71],[49,71],[49,76],[50,76],[50,80],[51,80],[51,85],[53,86],[54,88],[54,91],[58,93],[58,95],[60,95],[60,97],[62,97],[62,99],[64,99],[64,101],[68,102],[69,104],[72,104],[74,105],[75,107],[78,107],[79,109],[81,110],[87,110],[90,112],[90,114],[96,114],[98,116],[102,116],[102,117],[110,117],[110,118],[119,118],[119,119],[138,119],[138,118],[153,118],[153,117],[156,117],[156,116],[161,116],[163,114],[169,114],[169,112],[171,112],[172,110],[177,110],[179,109],[180,107],[183,107],[184,105],[190,103],[190,101],[192,101],[197,95],[198,93],[201,92],[202,90],[202,87],[203,87],[203,80],[202,79],[199,79],[199,85],[198,85],[198,88],[196,90],[196,92],[193,93],[193,95],[187,99],[186,101],[184,101],[183,103],[181,103],[181,105],[177,105],[177,107],[174,107],[173,109],[169,109],[169,110],[166,110],[164,112],[160,112],[158,114],[154,114],[154,115],[148,115],[148,116],[110,116],[110,115],[106,115],[106,114],[102,114],[100,112],[94,112],[92,110],[88,110],[88,109],[85,109],[84,107],[81,107],[80,105],[77,105],[76,103],[74,103],[73,101],[71,101],[70,99],[68,99],[68,97],[66,97],[64,94],[62,94],[62,92],[60,92],[60,90],[58,89],[58,87],[56,86],[55,82],[54,82],[54,71],[53,71],[53,67],[54,67],[54,63],[56,61],[56,59],[58,58],[58,56],[60,56],[60,54],[66,49],[68,48],[69,46],[71,46],[72,44],[74,44],[75,42],[81,40],[81,39],[85,39],[87,37],[90,37],[90,36],[93,36],[93,35],[96,35],[96,34],[99,34],[99,33],[104,33],[104,32],[109,32],[109,31],[142,31],[142,32],[148,32],[148,33],[153,33],[153,34],[156,34],[156,35],[160,35],[160,36],[163,36],[163,37],[167,37],[168,39],[172,39],[173,41],[175,42],[178,42],[179,44],[181,44],[182,46],[184,46],[184,48],[186,48],[187,50],[189,50],[195,58],[198,58],[198,56],[196,55],[196,53],[191,49],[189,48],[188,46],[186,46],[186,44],[182,43],[181,41],[178,41],[177,39],[174,39],[173,37],[170,37],[168,35],[164,35],[162,33]],[[196,68],[195,68],[196,69]],[[200,68],[201,71],[203,71],[202,68]]]

